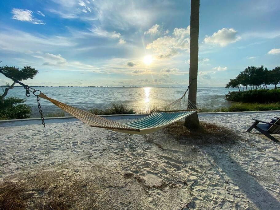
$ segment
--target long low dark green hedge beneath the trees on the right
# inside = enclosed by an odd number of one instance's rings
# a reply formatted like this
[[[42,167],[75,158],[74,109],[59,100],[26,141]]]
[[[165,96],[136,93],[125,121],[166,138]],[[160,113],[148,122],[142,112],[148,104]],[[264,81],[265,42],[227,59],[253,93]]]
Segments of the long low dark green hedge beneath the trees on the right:
[[[245,103],[270,103],[280,102],[280,89],[259,89],[248,91],[232,91],[226,94],[228,101]]]

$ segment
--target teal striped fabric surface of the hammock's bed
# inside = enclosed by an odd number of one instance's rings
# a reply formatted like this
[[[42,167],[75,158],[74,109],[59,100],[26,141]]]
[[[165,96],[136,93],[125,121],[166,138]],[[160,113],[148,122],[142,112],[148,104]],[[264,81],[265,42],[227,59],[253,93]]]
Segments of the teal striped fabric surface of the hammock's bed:
[[[164,113],[164,112],[153,113],[148,117],[144,117],[133,122],[124,123],[123,125],[134,129],[153,128],[153,127],[167,125],[172,122],[178,121],[178,119],[182,117],[186,117],[194,112],[195,111],[177,112],[177,113]]]

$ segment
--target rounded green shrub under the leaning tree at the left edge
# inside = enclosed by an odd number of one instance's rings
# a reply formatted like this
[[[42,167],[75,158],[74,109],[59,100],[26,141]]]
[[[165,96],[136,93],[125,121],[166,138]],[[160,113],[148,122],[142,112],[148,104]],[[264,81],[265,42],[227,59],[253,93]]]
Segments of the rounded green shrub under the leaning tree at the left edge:
[[[0,100],[0,119],[22,119],[29,118],[31,114],[31,107],[22,104],[26,102],[26,99],[20,99],[18,97],[7,97],[2,101]]]

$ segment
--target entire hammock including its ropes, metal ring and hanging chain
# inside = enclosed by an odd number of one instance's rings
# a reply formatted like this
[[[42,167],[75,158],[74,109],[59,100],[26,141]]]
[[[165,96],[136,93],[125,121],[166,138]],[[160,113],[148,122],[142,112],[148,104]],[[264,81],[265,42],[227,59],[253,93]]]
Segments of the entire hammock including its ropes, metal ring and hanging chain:
[[[81,120],[82,122],[84,122],[85,124],[91,127],[111,129],[118,132],[130,133],[130,134],[152,133],[176,121],[179,121],[197,111],[196,105],[192,103],[190,100],[188,100],[188,98],[186,97],[186,93],[191,86],[191,81],[197,78],[194,79],[190,78],[190,84],[188,85],[187,90],[185,91],[183,96],[177,99],[176,101],[170,103],[169,105],[163,107],[162,108],[163,110],[153,113],[147,117],[121,124],[115,121],[108,120],[105,117],[100,117],[93,113],[86,112],[82,109],[78,109],[73,106],[64,104],[60,101],[49,98],[40,90],[31,88],[28,85],[25,85],[22,82],[16,80],[15,78],[9,77],[4,72],[2,72],[2,70],[0,70],[0,73],[12,79],[14,82],[17,82],[18,84],[22,85],[24,89],[26,89],[26,97],[30,97],[30,92],[32,92],[37,97],[37,104],[40,110],[42,124],[44,125],[44,127],[45,127],[45,122],[41,110],[39,97],[52,102],[57,107],[63,109],[65,112],[73,115],[74,117],[76,117],[77,119]]]

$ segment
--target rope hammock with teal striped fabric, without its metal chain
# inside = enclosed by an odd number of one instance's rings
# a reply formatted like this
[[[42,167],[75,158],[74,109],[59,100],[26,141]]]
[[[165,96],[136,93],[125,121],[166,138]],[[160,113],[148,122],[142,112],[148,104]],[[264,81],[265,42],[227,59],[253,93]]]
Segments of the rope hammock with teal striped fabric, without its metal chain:
[[[189,107],[195,108],[193,106],[190,106],[191,102],[184,98],[185,94],[183,95],[183,97],[180,98],[181,100],[178,99],[180,102],[176,100],[175,103],[173,103],[177,105],[182,105],[182,101],[185,101],[187,102]],[[64,111],[68,112],[69,114],[73,115],[74,117],[78,118],[79,120],[88,124],[91,127],[111,129],[114,131],[129,134],[152,133],[196,112],[196,110],[194,109],[163,111],[153,113],[147,117],[141,118],[136,121],[120,124],[118,122],[108,120],[104,117],[100,117],[98,115],[56,101],[52,98],[47,97],[43,93],[40,93],[38,97],[49,100],[54,105],[58,106],[59,108],[63,109]],[[184,100],[182,100],[183,98]],[[168,106],[169,109],[174,108],[173,103],[170,106]]]

